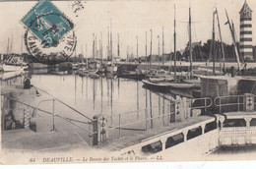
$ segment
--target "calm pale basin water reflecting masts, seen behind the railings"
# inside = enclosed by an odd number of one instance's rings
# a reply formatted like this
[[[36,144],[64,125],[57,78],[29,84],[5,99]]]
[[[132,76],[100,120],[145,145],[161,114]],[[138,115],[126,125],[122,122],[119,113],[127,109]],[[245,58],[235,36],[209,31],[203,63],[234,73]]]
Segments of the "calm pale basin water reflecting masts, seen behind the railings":
[[[5,85],[23,84],[23,79],[24,77],[19,77],[1,83]],[[32,75],[32,84],[54,95],[89,118],[93,119],[97,114],[107,115],[110,129],[114,131],[110,134],[110,138],[116,138],[118,135],[116,127],[119,124],[133,123],[122,128],[122,135],[127,136],[132,134],[132,131],[145,131],[175,121],[175,115],[169,114],[173,110],[173,105],[170,103],[173,102],[174,95],[149,89],[140,81],[111,76],[93,79],[81,78],[78,75],[46,74]],[[37,103],[40,100],[52,98],[40,90],[39,92],[40,96],[36,97]],[[49,103],[42,103],[40,106],[44,110],[52,111]],[[83,121],[81,115],[58,102],[55,103],[55,113]],[[140,123],[135,123],[137,121]],[[60,122],[59,126],[61,130],[71,129]]]

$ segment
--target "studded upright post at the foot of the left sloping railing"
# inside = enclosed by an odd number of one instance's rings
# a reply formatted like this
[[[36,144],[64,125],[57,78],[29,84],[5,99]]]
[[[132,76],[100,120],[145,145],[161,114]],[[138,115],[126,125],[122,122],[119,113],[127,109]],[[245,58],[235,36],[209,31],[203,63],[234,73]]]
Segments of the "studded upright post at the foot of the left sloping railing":
[[[94,141],[93,145],[108,141],[108,123],[107,116],[99,114],[94,116],[93,131]]]

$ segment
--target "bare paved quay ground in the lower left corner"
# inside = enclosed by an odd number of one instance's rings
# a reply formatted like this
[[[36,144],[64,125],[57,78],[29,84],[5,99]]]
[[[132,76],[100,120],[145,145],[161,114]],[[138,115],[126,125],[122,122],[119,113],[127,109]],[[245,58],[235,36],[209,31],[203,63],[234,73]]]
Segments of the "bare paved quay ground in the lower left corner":
[[[2,148],[48,152],[91,147],[77,133],[58,131],[35,133],[31,130],[21,129],[2,132]]]

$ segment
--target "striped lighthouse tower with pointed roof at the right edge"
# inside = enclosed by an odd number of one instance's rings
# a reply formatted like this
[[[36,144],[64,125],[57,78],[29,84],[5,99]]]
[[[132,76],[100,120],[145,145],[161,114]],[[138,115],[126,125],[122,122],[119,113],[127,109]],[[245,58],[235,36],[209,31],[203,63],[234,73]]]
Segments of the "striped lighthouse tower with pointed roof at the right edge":
[[[246,0],[240,11],[240,54],[246,61],[253,61],[252,54],[252,10]]]

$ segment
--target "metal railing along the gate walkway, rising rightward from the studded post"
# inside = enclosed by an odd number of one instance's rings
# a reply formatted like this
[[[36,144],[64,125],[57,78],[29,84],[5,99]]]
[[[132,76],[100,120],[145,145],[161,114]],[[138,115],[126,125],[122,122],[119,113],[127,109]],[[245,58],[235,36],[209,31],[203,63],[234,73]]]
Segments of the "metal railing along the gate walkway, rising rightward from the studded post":
[[[204,111],[207,111],[207,108],[211,107],[213,104],[213,101],[210,97],[187,99],[185,101],[187,102],[187,105],[188,105],[183,107],[183,111],[188,111],[187,114],[183,112],[185,119],[193,116],[193,114],[191,113],[193,110],[203,109]],[[159,126],[168,125],[169,123],[178,121],[178,116],[182,116],[177,114],[177,109],[178,109],[177,105],[180,104],[181,102],[182,102],[181,100],[178,100],[176,102],[168,102],[167,104],[162,106],[159,105],[155,107],[147,107],[141,110],[135,110],[135,111],[125,112],[125,113],[119,113],[118,115],[113,115],[110,118],[117,117],[118,124],[115,126],[109,126],[109,129],[110,130],[117,129],[118,136],[116,137],[120,139],[122,137],[122,131],[140,132],[140,131],[147,131],[150,128],[153,129],[154,126],[159,127]],[[154,110],[159,110],[160,112],[160,109],[163,110],[162,111],[163,113],[159,113],[156,115],[156,112],[158,111],[154,111]],[[166,112],[164,112],[164,110],[166,110]],[[127,121],[126,117],[128,115],[130,115],[129,119],[132,119],[133,122],[126,123]],[[138,116],[142,118],[138,119]],[[134,119],[136,118],[138,120],[134,121]],[[160,121],[162,121],[162,123],[160,123]],[[150,127],[149,127],[149,122],[151,125]],[[129,133],[132,134],[132,132],[129,132]]]

